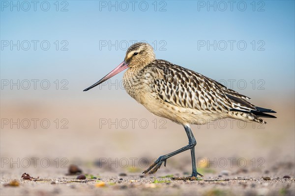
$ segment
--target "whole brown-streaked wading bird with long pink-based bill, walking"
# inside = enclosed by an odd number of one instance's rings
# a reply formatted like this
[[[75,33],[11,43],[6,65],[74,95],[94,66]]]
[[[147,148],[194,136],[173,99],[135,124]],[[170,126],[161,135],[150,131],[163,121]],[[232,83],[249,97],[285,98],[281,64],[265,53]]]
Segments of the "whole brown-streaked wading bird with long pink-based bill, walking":
[[[127,93],[151,113],[183,125],[189,141],[187,146],[160,156],[144,173],[157,172],[163,163],[166,166],[168,158],[190,149],[192,175],[186,178],[203,176],[196,169],[196,140],[190,124],[206,124],[224,118],[266,123],[260,117],[276,118],[265,114],[275,111],[251,104],[250,98],[213,79],[156,59],[153,48],[147,43],[132,45],[117,68],[84,91],[125,69],[128,70],[124,73],[123,85]]]

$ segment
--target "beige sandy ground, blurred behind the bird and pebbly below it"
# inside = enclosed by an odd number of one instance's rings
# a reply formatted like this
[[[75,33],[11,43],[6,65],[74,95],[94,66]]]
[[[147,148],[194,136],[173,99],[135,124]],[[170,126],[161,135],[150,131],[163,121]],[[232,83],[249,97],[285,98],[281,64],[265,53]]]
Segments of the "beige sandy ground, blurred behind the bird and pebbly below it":
[[[271,106],[278,112],[278,119],[266,119],[268,124],[262,127],[249,124],[240,128],[236,121],[232,127],[228,124],[225,128],[222,124],[216,127],[214,124],[192,126],[197,140],[198,171],[205,175],[199,181],[170,179],[171,176],[190,174],[189,151],[168,159],[166,168],[160,168],[154,175],[141,176],[145,170],[140,165],[141,158],[146,158],[150,164],[158,156],[185,146],[187,138],[183,128],[175,123],[167,121],[160,129],[161,118],[152,116],[133,101],[125,104],[112,102],[112,108],[119,108],[116,112],[108,107],[110,103],[93,100],[84,105],[68,100],[56,104],[37,101],[19,104],[7,101],[3,104],[2,101],[1,119],[46,118],[53,125],[48,129],[40,126],[28,129],[1,127],[0,195],[294,196],[294,101],[271,101],[268,100],[267,104],[264,100],[255,102]],[[61,129],[60,124],[56,128],[55,119],[63,118],[68,120],[68,128]],[[109,128],[108,124],[99,127],[98,122],[98,119],[132,118],[145,119],[149,126],[142,128],[137,124],[135,127],[119,125]],[[38,158],[36,167],[32,158]],[[48,168],[44,167],[46,162],[43,167],[40,163],[44,158],[50,160]],[[235,158],[233,167],[231,158]],[[28,159],[30,165],[27,167],[25,161]],[[132,159],[135,160],[134,167]],[[204,162],[207,159],[210,163]],[[242,161],[237,163],[238,159]],[[227,160],[225,167],[223,160]],[[247,161],[245,166],[244,160]],[[17,163],[11,166],[11,161],[18,162],[19,168]],[[111,166],[110,161],[114,162]],[[83,174],[89,174],[88,178],[79,181],[77,175],[65,175],[70,164],[78,165]],[[24,172],[39,179],[21,180]],[[91,175],[97,179],[90,179]],[[291,178],[283,178],[285,175]],[[270,180],[263,177],[270,177]],[[19,186],[5,186],[12,179],[18,180]]]

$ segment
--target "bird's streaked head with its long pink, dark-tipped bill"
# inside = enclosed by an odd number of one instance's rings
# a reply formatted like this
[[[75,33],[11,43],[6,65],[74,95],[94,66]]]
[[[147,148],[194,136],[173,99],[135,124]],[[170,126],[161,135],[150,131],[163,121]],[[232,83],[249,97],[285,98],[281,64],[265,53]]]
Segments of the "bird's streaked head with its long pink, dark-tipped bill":
[[[121,64],[84,91],[92,89],[125,69],[142,69],[154,60],[155,53],[149,44],[143,42],[135,43],[127,49],[125,59]]]

